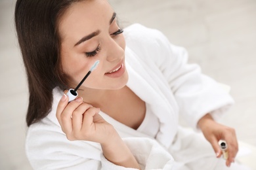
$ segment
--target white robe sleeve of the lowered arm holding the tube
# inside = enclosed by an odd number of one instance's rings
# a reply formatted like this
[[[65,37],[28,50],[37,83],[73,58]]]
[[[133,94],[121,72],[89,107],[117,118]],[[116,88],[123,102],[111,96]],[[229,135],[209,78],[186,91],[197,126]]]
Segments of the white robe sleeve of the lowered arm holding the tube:
[[[215,80],[201,73],[198,65],[188,63],[184,48],[171,44],[160,31],[136,24],[128,28],[126,36],[140,59],[159,69],[182,118],[194,129],[198,129],[198,120],[205,114],[217,120],[234,103]]]

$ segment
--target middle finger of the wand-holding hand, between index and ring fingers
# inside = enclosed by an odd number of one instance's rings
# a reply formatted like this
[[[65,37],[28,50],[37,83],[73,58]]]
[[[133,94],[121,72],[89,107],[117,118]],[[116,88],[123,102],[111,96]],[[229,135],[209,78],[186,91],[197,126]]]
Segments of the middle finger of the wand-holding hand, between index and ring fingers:
[[[72,132],[72,114],[79,105],[83,102],[82,97],[77,97],[74,101],[71,101],[68,103],[66,108],[63,110],[63,112],[60,114],[60,120],[62,122],[62,130],[66,135]]]

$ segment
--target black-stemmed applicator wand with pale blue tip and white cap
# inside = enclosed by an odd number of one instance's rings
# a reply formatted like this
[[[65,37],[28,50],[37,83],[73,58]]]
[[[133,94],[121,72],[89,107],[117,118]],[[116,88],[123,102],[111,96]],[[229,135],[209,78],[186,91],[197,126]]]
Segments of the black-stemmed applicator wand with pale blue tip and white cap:
[[[76,92],[78,90],[78,88],[83,84],[83,82],[86,80],[86,78],[92,73],[93,70],[96,69],[96,67],[98,66],[98,64],[100,63],[99,60],[95,61],[95,63],[93,64],[93,66],[91,67],[90,71],[88,71],[88,73],[85,75],[85,77],[83,77],[83,79],[81,80],[81,82],[79,82],[79,84],[76,86],[75,90],[74,89],[70,89],[68,90],[68,102],[70,101],[74,101],[74,99],[77,97],[78,93]]]

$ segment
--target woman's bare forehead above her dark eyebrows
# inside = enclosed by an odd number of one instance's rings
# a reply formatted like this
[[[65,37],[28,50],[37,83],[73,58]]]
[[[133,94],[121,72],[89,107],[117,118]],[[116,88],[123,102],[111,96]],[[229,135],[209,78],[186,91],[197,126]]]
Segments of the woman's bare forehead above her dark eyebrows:
[[[106,0],[80,1],[71,5],[58,22],[61,39],[79,39],[109,26],[114,10]],[[81,35],[83,34],[83,35]]]

